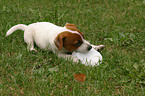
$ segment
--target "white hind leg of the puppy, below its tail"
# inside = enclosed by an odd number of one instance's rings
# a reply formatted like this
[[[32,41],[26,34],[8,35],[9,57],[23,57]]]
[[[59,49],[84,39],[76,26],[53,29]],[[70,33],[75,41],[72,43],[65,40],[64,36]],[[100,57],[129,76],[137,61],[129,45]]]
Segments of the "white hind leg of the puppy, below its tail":
[[[24,40],[27,43],[28,50],[37,52],[37,50],[34,49],[34,39],[33,39],[33,31],[32,30],[26,30],[24,32]]]

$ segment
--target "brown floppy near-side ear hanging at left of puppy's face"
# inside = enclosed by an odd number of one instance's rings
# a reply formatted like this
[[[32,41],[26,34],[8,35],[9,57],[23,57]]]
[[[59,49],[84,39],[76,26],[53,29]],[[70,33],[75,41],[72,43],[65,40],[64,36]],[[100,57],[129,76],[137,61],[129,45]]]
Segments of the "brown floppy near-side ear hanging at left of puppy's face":
[[[55,43],[56,47],[57,47],[59,50],[62,49],[64,39],[65,39],[65,36],[62,35],[62,34],[59,34],[59,35],[55,38],[54,43]]]

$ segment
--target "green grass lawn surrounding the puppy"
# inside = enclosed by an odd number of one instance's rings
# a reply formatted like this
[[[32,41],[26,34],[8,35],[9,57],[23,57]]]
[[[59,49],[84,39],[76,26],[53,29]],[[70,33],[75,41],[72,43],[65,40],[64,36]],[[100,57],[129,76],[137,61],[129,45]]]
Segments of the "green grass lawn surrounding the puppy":
[[[145,1],[0,0],[0,95],[144,96]],[[92,44],[104,44],[97,67],[73,64],[42,51],[27,51],[13,25],[48,21],[76,24]],[[52,60],[49,60],[51,59]],[[43,64],[39,69],[36,66]],[[73,73],[86,74],[77,82]]]

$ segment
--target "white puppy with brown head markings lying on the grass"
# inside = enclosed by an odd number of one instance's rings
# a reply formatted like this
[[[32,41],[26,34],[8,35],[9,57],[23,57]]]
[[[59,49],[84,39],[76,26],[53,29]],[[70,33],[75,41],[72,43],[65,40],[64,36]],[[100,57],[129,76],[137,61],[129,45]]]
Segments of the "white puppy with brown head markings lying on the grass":
[[[16,30],[24,31],[24,40],[27,43],[27,49],[34,49],[34,42],[38,47],[44,50],[58,53],[59,57],[71,57],[66,53],[73,51],[88,52],[93,47],[96,50],[102,49],[104,45],[95,46],[84,39],[76,25],[66,23],[64,27],[54,25],[49,22],[37,22],[30,25],[18,24],[10,28],[6,36],[11,35]]]

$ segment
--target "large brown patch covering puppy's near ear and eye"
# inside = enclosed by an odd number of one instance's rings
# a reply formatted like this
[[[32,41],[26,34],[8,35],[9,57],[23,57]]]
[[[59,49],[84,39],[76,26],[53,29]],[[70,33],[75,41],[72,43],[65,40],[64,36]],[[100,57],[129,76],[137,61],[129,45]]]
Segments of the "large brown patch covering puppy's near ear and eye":
[[[65,31],[58,34],[54,43],[59,50],[64,47],[68,52],[72,52],[81,46],[83,41],[79,34]]]

